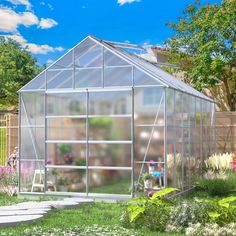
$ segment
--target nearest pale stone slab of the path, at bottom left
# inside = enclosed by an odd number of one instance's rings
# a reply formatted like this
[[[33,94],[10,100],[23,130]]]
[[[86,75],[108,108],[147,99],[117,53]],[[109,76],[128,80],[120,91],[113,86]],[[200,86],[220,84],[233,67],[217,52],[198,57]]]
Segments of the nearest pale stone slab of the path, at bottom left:
[[[21,223],[33,223],[43,218],[43,215],[26,215],[26,216],[0,216],[0,226],[15,226]]]

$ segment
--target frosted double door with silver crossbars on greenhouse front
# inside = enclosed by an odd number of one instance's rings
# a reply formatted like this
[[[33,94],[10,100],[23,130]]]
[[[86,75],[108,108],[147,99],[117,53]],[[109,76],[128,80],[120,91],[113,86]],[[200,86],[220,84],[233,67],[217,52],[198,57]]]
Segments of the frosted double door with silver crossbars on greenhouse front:
[[[46,94],[46,192],[131,196],[132,89]]]

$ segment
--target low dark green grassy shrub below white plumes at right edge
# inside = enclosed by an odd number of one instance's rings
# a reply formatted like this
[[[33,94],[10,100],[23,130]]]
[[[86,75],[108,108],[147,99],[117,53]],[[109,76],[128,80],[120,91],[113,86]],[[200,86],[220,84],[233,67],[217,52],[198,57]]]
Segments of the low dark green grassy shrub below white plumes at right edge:
[[[226,173],[225,179],[205,179],[197,181],[196,186],[207,192],[210,196],[227,196],[236,190],[236,174]]]

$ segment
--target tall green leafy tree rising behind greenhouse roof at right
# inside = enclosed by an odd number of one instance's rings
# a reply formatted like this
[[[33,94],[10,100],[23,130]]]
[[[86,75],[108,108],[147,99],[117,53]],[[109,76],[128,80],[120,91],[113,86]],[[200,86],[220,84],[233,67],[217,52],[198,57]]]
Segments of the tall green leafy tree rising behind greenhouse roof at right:
[[[201,6],[191,4],[166,42],[170,61],[184,72],[185,82],[199,91],[221,86],[227,109],[236,110],[236,0]],[[222,101],[219,101],[222,102]]]

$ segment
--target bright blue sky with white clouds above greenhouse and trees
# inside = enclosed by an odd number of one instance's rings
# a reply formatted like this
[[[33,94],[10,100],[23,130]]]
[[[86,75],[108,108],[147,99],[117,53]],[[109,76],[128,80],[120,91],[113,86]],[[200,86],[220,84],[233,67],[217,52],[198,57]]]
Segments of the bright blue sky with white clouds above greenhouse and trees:
[[[0,0],[0,35],[50,63],[88,34],[110,41],[162,45],[194,0]],[[201,1],[202,4],[220,2]]]

